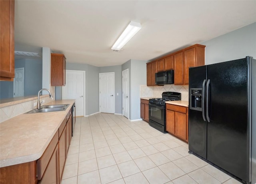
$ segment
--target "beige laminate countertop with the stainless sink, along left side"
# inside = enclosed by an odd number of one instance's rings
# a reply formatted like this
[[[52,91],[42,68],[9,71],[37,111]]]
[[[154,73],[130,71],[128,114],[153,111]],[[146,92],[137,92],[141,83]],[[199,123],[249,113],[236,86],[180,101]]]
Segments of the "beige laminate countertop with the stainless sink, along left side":
[[[65,111],[20,114],[2,122],[0,124],[0,167],[38,160],[74,102],[75,100],[55,100],[47,105],[70,105]]]

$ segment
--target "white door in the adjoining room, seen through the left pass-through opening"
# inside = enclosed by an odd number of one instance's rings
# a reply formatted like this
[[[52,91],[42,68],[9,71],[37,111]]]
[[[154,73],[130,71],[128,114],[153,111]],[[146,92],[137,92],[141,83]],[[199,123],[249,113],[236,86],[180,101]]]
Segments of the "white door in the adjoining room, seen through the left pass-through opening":
[[[13,97],[24,96],[24,68],[15,68]]]

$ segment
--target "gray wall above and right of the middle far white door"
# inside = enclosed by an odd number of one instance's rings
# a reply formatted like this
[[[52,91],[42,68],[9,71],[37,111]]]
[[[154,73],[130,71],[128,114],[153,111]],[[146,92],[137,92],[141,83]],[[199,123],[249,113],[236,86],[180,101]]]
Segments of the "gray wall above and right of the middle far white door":
[[[100,67],[100,73],[115,72],[115,113],[122,114],[122,67],[105,66]],[[118,93],[118,96],[117,96]]]

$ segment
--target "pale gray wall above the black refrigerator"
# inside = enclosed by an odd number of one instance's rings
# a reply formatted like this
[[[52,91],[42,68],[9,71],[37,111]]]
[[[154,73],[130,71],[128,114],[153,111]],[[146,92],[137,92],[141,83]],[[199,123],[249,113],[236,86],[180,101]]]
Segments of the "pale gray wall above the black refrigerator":
[[[200,44],[206,45],[205,64],[256,58],[256,22]]]

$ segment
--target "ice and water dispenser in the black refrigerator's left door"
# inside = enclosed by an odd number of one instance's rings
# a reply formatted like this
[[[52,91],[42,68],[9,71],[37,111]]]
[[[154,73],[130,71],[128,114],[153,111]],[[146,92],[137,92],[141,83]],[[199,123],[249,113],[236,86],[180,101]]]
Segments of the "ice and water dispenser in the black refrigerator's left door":
[[[202,88],[190,88],[190,109],[202,111]]]

